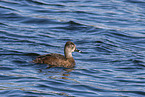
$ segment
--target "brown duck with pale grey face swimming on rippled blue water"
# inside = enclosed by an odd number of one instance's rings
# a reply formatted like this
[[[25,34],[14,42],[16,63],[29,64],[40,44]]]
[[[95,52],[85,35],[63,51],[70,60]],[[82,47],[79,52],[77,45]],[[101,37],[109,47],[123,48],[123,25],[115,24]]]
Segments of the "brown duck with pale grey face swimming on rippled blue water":
[[[65,68],[72,68],[75,66],[75,60],[72,57],[72,52],[77,51],[81,52],[76,49],[76,45],[73,42],[66,42],[64,47],[64,55],[51,53],[47,55],[38,56],[34,63],[42,63],[48,64],[50,67],[65,67]]]

